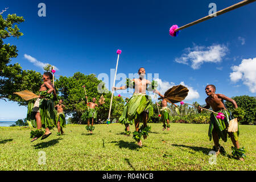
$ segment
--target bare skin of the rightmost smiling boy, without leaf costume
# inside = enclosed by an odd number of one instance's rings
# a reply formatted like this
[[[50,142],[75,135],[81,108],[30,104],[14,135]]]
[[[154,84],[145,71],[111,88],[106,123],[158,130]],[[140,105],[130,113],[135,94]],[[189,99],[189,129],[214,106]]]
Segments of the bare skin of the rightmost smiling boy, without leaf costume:
[[[222,102],[223,100],[231,102],[232,105],[234,106],[234,108],[237,109],[236,101],[234,101],[232,98],[226,97],[224,94],[216,94],[215,91],[216,90],[213,88],[213,86],[210,86],[210,85],[208,85],[205,88],[205,93],[208,96],[205,99],[205,102],[207,103],[207,105],[204,107],[205,109],[209,109],[210,107],[212,107],[213,111],[226,110],[226,107]],[[202,110],[203,109],[199,108],[199,111],[202,111]],[[228,128],[228,126],[226,126],[226,127]],[[232,133],[228,132],[228,134],[229,134],[229,137],[232,140],[232,143],[234,144],[234,146],[237,148],[240,148],[239,142],[234,139]],[[220,144],[219,144],[217,131],[214,128],[212,131],[212,138],[213,138],[214,146],[217,148]],[[216,152],[216,155],[218,155],[218,154],[220,154],[220,151]],[[240,160],[244,160],[244,159],[240,158]]]

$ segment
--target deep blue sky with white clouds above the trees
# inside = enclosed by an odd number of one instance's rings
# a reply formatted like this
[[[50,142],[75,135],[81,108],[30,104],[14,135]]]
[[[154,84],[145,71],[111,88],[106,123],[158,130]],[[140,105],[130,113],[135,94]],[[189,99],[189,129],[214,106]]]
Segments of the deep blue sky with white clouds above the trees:
[[[46,17],[38,16],[41,2]],[[256,3],[185,28],[176,38],[169,29],[207,16],[209,3],[218,11],[237,2],[2,0],[0,9],[9,7],[4,17],[25,19],[18,25],[24,35],[5,39],[19,51],[12,64],[43,73],[40,64],[49,63],[63,76],[110,75],[121,49],[118,73],[128,76],[144,67],[159,74],[160,91],[181,83],[191,90],[187,102],[204,104],[207,84],[228,97],[256,96]],[[26,117],[27,108],[14,102],[0,100],[0,108],[0,121]]]

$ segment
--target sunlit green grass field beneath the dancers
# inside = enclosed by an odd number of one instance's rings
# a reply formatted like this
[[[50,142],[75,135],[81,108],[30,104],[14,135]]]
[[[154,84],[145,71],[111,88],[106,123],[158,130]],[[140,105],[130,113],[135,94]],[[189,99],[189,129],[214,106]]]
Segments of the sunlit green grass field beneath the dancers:
[[[232,142],[221,141],[228,156],[219,155],[210,164],[213,141],[208,139],[209,125],[171,123],[162,131],[162,123],[150,123],[151,133],[142,147],[132,136],[122,134],[119,123],[94,125],[92,135],[85,125],[67,125],[65,134],[57,131],[44,140],[30,142],[31,129],[0,127],[0,170],[255,170],[256,126],[240,125],[240,146],[246,148],[245,162],[234,159]],[[134,125],[131,126],[134,131]],[[42,152],[46,163],[42,164]],[[45,152],[45,153],[44,153]]]

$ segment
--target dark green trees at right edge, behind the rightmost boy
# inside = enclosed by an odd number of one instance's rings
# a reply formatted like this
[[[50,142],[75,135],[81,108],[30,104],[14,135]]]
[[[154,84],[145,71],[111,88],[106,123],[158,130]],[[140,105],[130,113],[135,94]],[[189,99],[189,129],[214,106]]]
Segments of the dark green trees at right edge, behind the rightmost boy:
[[[237,102],[237,106],[245,110],[245,116],[241,119],[240,123],[245,125],[256,125],[256,99],[250,96],[236,96],[232,97]],[[226,107],[230,111],[234,111],[234,107],[230,102],[225,102]]]

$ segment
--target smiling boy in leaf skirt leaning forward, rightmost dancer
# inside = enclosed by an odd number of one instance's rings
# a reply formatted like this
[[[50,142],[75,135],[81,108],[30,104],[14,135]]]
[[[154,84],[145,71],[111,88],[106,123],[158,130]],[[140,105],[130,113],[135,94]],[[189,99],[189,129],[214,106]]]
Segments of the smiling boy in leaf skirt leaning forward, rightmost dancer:
[[[216,155],[220,154],[220,152],[223,152],[225,154],[224,148],[219,144],[219,139],[221,138],[222,140],[224,140],[224,142],[226,142],[228,134],[230,139],[232,140],[232,143],[234,144],[234,147],[232,146],[232,154],[237,156],[240,160],[244,160],[245,150],[244,147],[240,148],[238,142],[239,130],[235,133],[228,132],[229,121],[234,119],[234,117],[232,113],[228,109],[226,109],[224,100],[231,102],[235,109],[237,109],[237,103],[232,98],[226,97],[224,94],[216,94],[215,91],[216,87],[214,85],[206,86],[205,93],[208,97],[205,99],[207,105],[204,108],[209,109],[210,107],[212,107],[213,111],[215,111],[216,113],[222,113],[225,115],[225,117],[222,120],[217,117],[217,114],[210,114],[210,125],[208,131],[209,139],[211,140],[213,138]],[[203,109],[199,108],[199,111],[202,110]]]

